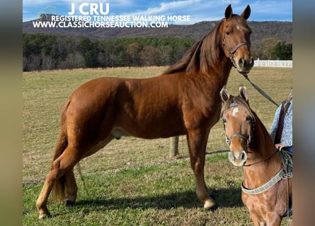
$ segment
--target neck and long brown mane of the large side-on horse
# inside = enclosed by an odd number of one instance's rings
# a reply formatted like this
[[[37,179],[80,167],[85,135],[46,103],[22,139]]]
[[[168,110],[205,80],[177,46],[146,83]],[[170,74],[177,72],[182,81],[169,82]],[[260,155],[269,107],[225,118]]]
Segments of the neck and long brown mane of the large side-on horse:
[[[227,84],[231,71],[231,60],[225,56],[221,43],[222,22],[199,40],[176,64],[162,75],[177,74],[199,80],[202,88],[213,90],[219,98],[219,91]]]

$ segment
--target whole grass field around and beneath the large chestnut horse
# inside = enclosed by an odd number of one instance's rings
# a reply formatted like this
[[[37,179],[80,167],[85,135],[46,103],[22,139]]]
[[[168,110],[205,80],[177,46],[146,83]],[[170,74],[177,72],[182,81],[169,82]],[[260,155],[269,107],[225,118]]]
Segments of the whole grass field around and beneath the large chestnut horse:
[[[212,129],[207,144],[205,179],[217,209],[206,211],[195,195],[185,138],[180,156],[168,157],[169,139],[122,138],[81,161],[77,205],[66,208],[50,200],[53,218],[38,220],[35,201],[50,169],[57,142],[59,112],[82,83],[101,76],[147,78],[165,68],[81,69],[23,73],[23,225],[251,225],[241,202],[242,169],[227,160],[222,123]],[[280,103],[292,87],[292,69],[254,67],[253,83]],[[232,70],[227,83],[236,95],[248,88],[251,107],[267,128],[275,105]],[[75,170],[78,176],[78,169]],[[85,189],[85,187],[87,189]],[[285,219],[282,225],[286,224]]]

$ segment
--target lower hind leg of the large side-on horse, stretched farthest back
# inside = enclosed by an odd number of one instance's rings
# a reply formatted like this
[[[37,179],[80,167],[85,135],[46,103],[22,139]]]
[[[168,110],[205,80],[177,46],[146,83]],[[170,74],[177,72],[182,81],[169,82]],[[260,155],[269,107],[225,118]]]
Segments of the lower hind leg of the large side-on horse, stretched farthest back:
[[[76,163],[80,160],[78,153],[79,151],[76,148],[71,148],[68,145],[67,148],[64,150],[64,153],[62,153],[62,155],[60,155],[54,162],[52,162],[50,172],[47,174],[45,184],[44,186],[42,186],[42,191],[40,191],[40,196],[38,196],[38,200],[36,201],[36,207],[38,208],[38,212],[40,213],[39,218],[50,217],[50,212],[47,209],[48,196],[50,195],[52,187],[54,186],[57,179],[62,177],[65,172],[70,170],[67,176],[68,178],[72,177],[73,172],[71,173],[71,170],[73,169],[74,165],[76,165]],[[75,183],[75,181],[72,181],[72,184],[70,182],[71,186],[73,186],[73,182]],[[76,188],[73,189],[73,187],[72,190],[70,189],[70,191],[76,193],[75,190]]]

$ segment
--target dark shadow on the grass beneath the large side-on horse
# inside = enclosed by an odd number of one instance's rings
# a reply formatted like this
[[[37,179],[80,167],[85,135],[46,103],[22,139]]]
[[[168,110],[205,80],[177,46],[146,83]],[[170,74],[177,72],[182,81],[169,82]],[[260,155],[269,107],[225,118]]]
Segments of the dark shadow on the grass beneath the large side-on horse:
[[[216,202],[217,208],[238,207],[243,206],[241,201],[241,188],[235,189],[217,189],[212,190],[212,198]],[[135,198],[95,198],[90,200],[79,200],[76,207],[88,206],[93,209],[112,210],[125,208],[202,208],[201,201],[197,198],[195,191],[184,191],[173,194],[165,194],[159,196],[140,196]],[[95,210],[94,209],[94,210]]]

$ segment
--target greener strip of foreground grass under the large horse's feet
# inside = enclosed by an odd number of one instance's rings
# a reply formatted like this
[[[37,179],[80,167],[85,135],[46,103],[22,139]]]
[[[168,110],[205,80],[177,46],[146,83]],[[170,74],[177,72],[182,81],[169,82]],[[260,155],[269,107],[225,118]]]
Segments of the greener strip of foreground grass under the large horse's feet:
[[[241,190],[234,180],[241,179],[241,170],[227,162],[227,153],[207,157],[207,181],[216,177],[211,162],[220,167],[224,177],[212,179],[209,185],[217,201],[217,210],[206,211],[195,195],[193,172],[189,161],[123,169],[115,173],[96,173],[84,176],[87,191],[78,179],[79,198],[76,206],[67,208],[52,203],[53,217],[38,220],[34,200],[40,186],[23,186],[23,225],[212,225],[215,219],[224,224],[247,224],[231,215],[246,215],[241,208]],[[235,170],[236,173],[229,173]],[[237,174],[237,177],[235,175]],[[220,217],[220,215],[222,215]],[[222,225],[224,225],[222,224]]]

